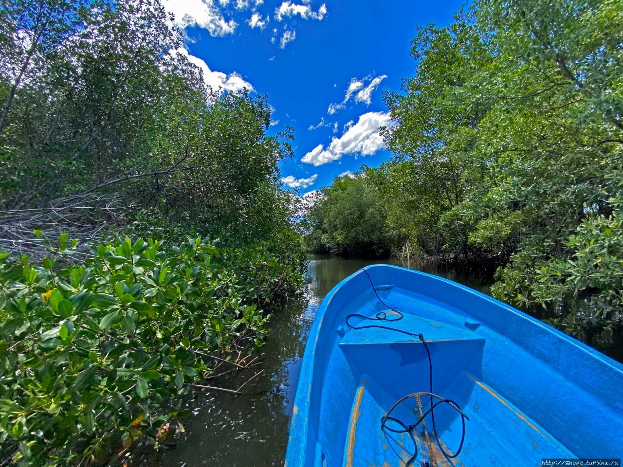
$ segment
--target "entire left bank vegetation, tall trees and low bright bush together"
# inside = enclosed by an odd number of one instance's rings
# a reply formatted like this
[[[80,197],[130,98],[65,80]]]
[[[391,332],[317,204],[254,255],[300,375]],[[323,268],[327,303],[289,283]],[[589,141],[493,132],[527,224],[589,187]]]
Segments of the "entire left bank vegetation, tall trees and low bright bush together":
[[[128,461],[300,287],[292,134],[157,0],[0,12],[0,465]]]

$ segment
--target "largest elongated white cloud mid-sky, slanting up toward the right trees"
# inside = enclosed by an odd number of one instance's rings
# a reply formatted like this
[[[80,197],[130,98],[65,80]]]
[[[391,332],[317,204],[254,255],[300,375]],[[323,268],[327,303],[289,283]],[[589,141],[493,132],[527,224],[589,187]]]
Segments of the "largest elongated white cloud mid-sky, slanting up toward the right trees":
[[[302,162],[321,166],[322,164],[337,161],[344,154],[360,154],[371,156],[384,149],[383,138],[379,134],[381,126],[391,125],[389,113],[368,112],[359,116],[359,121],[348,128],[340,138],[333,136],[331,144],[325,149],[318,144],[301,159]]]

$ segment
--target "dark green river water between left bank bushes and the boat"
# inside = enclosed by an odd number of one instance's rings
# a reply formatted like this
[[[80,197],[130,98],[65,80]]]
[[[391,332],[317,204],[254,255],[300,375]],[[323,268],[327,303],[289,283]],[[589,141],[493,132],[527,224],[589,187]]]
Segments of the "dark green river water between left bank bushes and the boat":
[[[397,264],[396,260],[366,261],[310,255],[304,297],[288,304],[271,319],[272,332],[264,347],[264,363],[252,372],[240,372],[222,387],[238,387],[255,372],[264,373],[245,386],[252,395],[211,392],[189,403],[193,413],[176,446],[145,460],[150,466],[264,467],[283,465],[288,425],[297,390],[305,342],[320,303],[331,288],[359,268],[373,263]],[[427,270],[487,293],[487,280]]]

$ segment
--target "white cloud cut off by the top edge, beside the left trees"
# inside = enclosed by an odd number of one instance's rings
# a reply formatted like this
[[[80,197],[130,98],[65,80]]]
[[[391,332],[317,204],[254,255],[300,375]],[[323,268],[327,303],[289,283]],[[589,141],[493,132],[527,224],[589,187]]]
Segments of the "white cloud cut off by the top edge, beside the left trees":
[[[219,1],[221,5],[227,2]],[[184,29],[198,26],[212,36],[232,34],[238,24],[233,20],[226,21],[213,0],[163,0],[166,11],[174,14],[174,26]]]

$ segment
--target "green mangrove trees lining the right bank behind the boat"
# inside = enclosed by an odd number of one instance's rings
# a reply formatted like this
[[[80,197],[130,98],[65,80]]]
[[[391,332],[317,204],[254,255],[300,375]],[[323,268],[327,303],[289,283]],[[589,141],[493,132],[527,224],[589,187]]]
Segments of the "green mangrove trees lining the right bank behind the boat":
[[[321,190],[307,247],[356,253],[343,209],[365,191],[357,247],[493,265],[497,298],[623,342],[622,20],[616,0],[482,1],[419,29],[385,96],[391,161]]]

